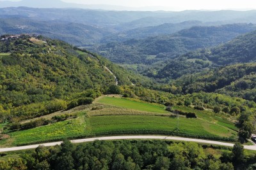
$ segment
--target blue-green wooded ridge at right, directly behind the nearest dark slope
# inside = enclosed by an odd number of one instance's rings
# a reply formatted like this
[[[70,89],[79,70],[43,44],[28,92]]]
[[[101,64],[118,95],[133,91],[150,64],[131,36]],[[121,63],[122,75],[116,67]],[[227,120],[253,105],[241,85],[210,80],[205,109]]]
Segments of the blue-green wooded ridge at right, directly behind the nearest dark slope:
[[[168,61],[155,78],[176,79],[211,67],[256,61],[256,31],[239,36],[228,43],[189,52]]]

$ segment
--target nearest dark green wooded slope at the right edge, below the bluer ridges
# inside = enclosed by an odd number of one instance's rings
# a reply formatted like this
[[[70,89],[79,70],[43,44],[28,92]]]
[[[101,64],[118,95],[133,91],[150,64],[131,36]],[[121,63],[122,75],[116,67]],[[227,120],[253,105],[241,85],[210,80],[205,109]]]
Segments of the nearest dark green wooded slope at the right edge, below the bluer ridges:
[[[235,64],[203,73],[182,76],[175,85],[184,94],[216,92],[256,101],[256,63]]]

